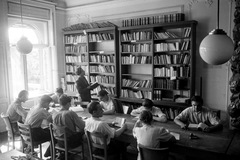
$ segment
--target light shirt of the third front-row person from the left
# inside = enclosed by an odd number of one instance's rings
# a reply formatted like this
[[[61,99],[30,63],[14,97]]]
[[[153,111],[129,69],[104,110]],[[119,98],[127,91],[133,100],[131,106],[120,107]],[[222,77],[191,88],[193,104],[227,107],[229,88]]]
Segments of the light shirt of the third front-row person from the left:
[[[53,114],[53,124],[57,126],[66,126],[67,137],[76,134],[77,132],[84,132],[85,122],[81,117],[70,110],[60,110],[59,112]],[[62,137],[63,131],[56,131],[56,136]]]

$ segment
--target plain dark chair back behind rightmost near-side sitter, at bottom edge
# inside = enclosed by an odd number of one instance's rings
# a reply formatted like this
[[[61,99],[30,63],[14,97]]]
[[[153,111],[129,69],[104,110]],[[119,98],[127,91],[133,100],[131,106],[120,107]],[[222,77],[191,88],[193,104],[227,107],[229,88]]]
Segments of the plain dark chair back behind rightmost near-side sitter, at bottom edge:
[[[168,148],[150,148],[138,144],[141,160],[168,160]]]

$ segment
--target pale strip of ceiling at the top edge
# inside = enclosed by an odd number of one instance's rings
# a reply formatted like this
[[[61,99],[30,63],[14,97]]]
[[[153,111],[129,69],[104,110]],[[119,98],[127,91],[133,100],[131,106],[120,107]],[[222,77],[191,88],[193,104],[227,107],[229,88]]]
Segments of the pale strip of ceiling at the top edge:
[[[58,6],[71,8],[71,7],[84,6],[89,4],[104,3],[104,2],[114,1],[114,0],[50,0],[50,1],[55,1],[58,4]]]

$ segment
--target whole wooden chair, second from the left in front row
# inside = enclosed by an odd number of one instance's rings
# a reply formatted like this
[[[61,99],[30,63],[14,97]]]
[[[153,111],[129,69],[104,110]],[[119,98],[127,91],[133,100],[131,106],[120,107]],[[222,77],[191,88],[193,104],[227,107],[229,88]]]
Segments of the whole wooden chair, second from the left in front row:
[[[30,125],[22,124],[20,122],[17,122],[18,128],[20,131],[21,139],[22,139],[22,144],[27,144],[31,146],[31,152],[34,152],[34,146],[39,146],[40,149],[40,158],[42,159],[42,143],[45,143],[46,140],[44,141],[33,141],[32,139],[32,128]],[[23,148],[24,151],[24,148]]]

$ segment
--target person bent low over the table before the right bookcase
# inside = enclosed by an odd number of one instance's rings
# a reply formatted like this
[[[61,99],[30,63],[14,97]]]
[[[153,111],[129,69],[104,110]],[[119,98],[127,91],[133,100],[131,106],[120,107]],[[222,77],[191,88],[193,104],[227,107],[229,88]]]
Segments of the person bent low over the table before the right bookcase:
[[[132,116],[139,116],[142,111],[148,110],[153,115],[153,120],[158,122],[167,122],[167,117],[164,113],[162,113],[160,108],[154,107],[153,102],[150,99],[144,99],[142,106],[132,110]]]

